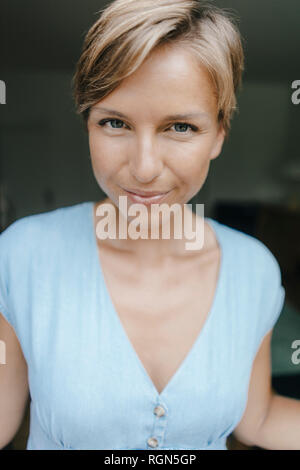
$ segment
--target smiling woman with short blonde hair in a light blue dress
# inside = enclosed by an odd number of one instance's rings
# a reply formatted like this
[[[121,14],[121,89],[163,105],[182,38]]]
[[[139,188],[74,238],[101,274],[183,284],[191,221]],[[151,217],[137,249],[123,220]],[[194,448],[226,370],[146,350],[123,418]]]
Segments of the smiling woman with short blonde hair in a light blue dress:
[[[24,217],[0,237],[0,443],[29,387],[28,449],[226,449],[232,432],[300,449],[300,403],[271,389],[284,301],[273,254],[191,211],[204,238],[187,250],[175,231],[188,213],[152,213],[180,212],[203,186],[242,70],[233,21],[198,1],[117,0],[89,30],[74,94],[107,198]],[[127,236],[135,203],[143,238]]]

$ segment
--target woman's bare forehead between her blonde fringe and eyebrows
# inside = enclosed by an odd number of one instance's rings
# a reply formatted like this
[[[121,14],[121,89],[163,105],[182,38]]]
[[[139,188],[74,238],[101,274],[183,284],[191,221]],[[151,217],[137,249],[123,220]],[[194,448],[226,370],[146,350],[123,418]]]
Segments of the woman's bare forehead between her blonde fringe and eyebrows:
[[[183,46],[160,46],[106,98],[103,105],[132,106],[184,112],[199,106],[215,112],[216,95],[208,71]],[[171,110],[170,110],[171,111]],[[126,111],[125,111],[126,112]]]

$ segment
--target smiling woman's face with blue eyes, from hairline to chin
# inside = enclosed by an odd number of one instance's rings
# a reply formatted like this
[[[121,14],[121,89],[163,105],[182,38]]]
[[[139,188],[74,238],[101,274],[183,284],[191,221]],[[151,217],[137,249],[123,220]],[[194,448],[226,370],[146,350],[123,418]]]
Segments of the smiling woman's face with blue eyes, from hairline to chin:
[[[95,178],[116,207],[124,188],[169,191],[164,203],[187,203],[224,141],[208,73],[178,46],[152,52],[94,105],[88,132]]]

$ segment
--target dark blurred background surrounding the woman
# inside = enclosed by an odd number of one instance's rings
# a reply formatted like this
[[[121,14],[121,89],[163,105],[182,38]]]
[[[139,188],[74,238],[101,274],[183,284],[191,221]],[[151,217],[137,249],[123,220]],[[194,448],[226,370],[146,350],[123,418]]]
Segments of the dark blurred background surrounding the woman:
[[[75,114],[71,79],[85,33],[107,2],[2,0],[0,231],[14,220],[105,197],[91,169],[87,134]],[[299,0],[215,0],[240,18],[246,55],[239,113],[201,191],[205,216],[255,236],[276,256],[286,300],[272,338],[274,389],[300,398]],[[25,449],[29,408],[7,449]],[[229,437],[232,449],[248,447]],[[253,448],[257,449],[257,448]]]

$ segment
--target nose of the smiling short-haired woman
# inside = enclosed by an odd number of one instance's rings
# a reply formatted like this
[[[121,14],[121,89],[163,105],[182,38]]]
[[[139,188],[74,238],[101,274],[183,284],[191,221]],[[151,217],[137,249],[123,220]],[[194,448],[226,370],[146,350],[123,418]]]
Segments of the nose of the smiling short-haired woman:
[[[163,170],[158,142],[150,133],[136,137],[135,148],[129,158],[130,173],[142,184],[151,183]]]

